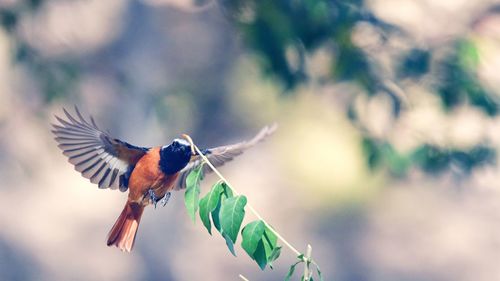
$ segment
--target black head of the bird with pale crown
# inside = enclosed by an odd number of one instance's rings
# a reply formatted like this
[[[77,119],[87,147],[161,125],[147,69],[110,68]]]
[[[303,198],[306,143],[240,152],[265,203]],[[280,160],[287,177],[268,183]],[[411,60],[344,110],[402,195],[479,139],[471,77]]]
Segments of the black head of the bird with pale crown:
[[[165,174],[175,174],[189,163],[193,155],[191,144],[185,139],[174,139],[160,150],[160,167]]]

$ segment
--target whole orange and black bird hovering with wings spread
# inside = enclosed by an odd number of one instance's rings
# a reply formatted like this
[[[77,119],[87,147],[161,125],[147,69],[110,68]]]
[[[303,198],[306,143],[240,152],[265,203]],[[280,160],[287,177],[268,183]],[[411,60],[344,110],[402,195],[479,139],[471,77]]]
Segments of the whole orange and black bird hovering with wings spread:
[[[76,171],[101,189],[128,191],[123,211],[107,236],[107,245],[131,252],[145,207],[163,206],[170,192],[186,188],[187,175],[202,164],[190,138],[175,138],[170,144],[140,147],[129,144],[101,130],[94,118],[85,119],[75,106],[75,114],[63,108],[64,117],[55,115],[52,133]],[[265,140],[276,124],[264,126],[252,139],[232,145],[200,150],[215,166],[221,166],[246,149]],[[211,169],[204,165],[202,175]]]

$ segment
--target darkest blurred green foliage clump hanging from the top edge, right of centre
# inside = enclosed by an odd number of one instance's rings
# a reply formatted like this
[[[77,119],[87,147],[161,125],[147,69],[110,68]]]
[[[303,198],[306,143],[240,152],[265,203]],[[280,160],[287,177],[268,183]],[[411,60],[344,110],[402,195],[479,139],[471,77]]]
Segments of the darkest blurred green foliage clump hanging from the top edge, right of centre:
[[[367,58],[351,39],[356,23],[375,19],[363,1],[237,0],[225,1],[224,7],[248,46],[262,56],[263,71],[282,80],[288,90],[307,80],[306,53],[327,43],[334,44],[337,52],[332,79],[355,80],[370,92],[375,90],[376,78]],[[286,58],[289,49],[298,53],[297,67]]]

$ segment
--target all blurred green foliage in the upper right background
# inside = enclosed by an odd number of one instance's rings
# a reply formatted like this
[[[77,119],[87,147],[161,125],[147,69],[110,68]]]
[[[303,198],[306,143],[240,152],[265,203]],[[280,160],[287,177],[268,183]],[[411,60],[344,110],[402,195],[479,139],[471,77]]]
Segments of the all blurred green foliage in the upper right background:
[[[286,86],[285,93],[293,93],[300,83],[307,83],[303,58],[324,46],[332,46],[331,82],[350,81],[361,86],[368,95],[389,94],[394,103],[394,117],[399,116],[401,97],[391,93],[384,85],[383,74],[370,54],[353,43],[352,35],[358,24],[371,25],[381,38],[397,34],[409,45],[415,45],[411,38],[397,26],[377,18],[362,0],[356,1],[227,1],[225,7],[243,32],[248,46],[262,57],[263,72],[274,75]],[[253,18],[244,17],[248,9]],[[286,51],[297,50],[302,58],[298,69],[288,63]],[[435,82],[430,89],[439,96],[444,111],[461,105],[477,107],[488,116],[498,114],[498,100],[478,80],[478,50],[467,37],[458,38],[439,46],[447,50],[444,58],[434,56],[438,51],[415,47],[402,52],[399,63],[394,65],[394,79],[409,79],[418,82],[432,76]],[[393,81],[397,83],[397,81]],[[352,105],[346,114],[359,126],[357,113]],[[440,148],[422,144],[408,154],[398,153],[387,141],[364,134],[363,148],[367,163],[372,169],[386,167],[396,176],[404,175],[412,166],[418,166],[429,173],[440,173],[452,167],[469,173],[474,167],[495,162],[496,150],[488,145],[478,144],[468,150]]]

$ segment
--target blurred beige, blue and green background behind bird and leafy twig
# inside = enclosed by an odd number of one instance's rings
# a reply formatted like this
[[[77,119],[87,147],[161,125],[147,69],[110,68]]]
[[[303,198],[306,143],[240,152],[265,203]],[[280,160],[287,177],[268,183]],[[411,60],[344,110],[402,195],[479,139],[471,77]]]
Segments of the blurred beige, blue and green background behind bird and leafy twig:
[[[278,122],[221,171],[325,280],[500,279],[500,2],[0,0],[0,24],[0,280],[282,280],[294,260],[234,258],[180,192],[131,254],[106,247],[127,195],[58,150],[74,104],[141,146]]]

